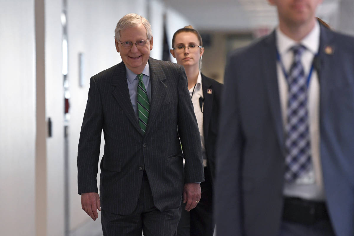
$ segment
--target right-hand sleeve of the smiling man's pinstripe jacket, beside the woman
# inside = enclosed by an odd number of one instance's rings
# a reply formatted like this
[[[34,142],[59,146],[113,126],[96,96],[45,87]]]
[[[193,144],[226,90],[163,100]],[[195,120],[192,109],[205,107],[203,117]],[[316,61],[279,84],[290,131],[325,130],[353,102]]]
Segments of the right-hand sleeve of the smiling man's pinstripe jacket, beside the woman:
[[[178,75],[178,135],[184,156],[184,182],[204,181],[200,133],[187,86],[187,76],[181,66]]]

